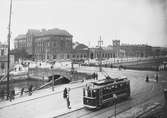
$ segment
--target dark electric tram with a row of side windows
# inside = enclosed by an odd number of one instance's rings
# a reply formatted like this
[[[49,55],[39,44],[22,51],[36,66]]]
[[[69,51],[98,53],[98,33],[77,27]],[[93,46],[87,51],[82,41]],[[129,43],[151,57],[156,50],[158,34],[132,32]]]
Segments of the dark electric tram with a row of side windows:
[[[90,82],[83,89],[83,104],[87,108],[101,108],[106,103],[114,102],[117,99],[129,98],[130,80],[126,77],[110,78]]]

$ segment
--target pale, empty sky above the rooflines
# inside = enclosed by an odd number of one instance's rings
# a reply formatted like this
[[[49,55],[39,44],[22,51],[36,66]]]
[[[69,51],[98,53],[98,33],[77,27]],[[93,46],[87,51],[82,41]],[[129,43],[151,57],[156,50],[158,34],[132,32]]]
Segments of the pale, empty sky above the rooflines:
[[[10,0],[0,0],[0,42],[7,42]],[[13,0],[11,47],[28,29],[59,28],[95,47],[112,40],[167,47],[166,0]]]

